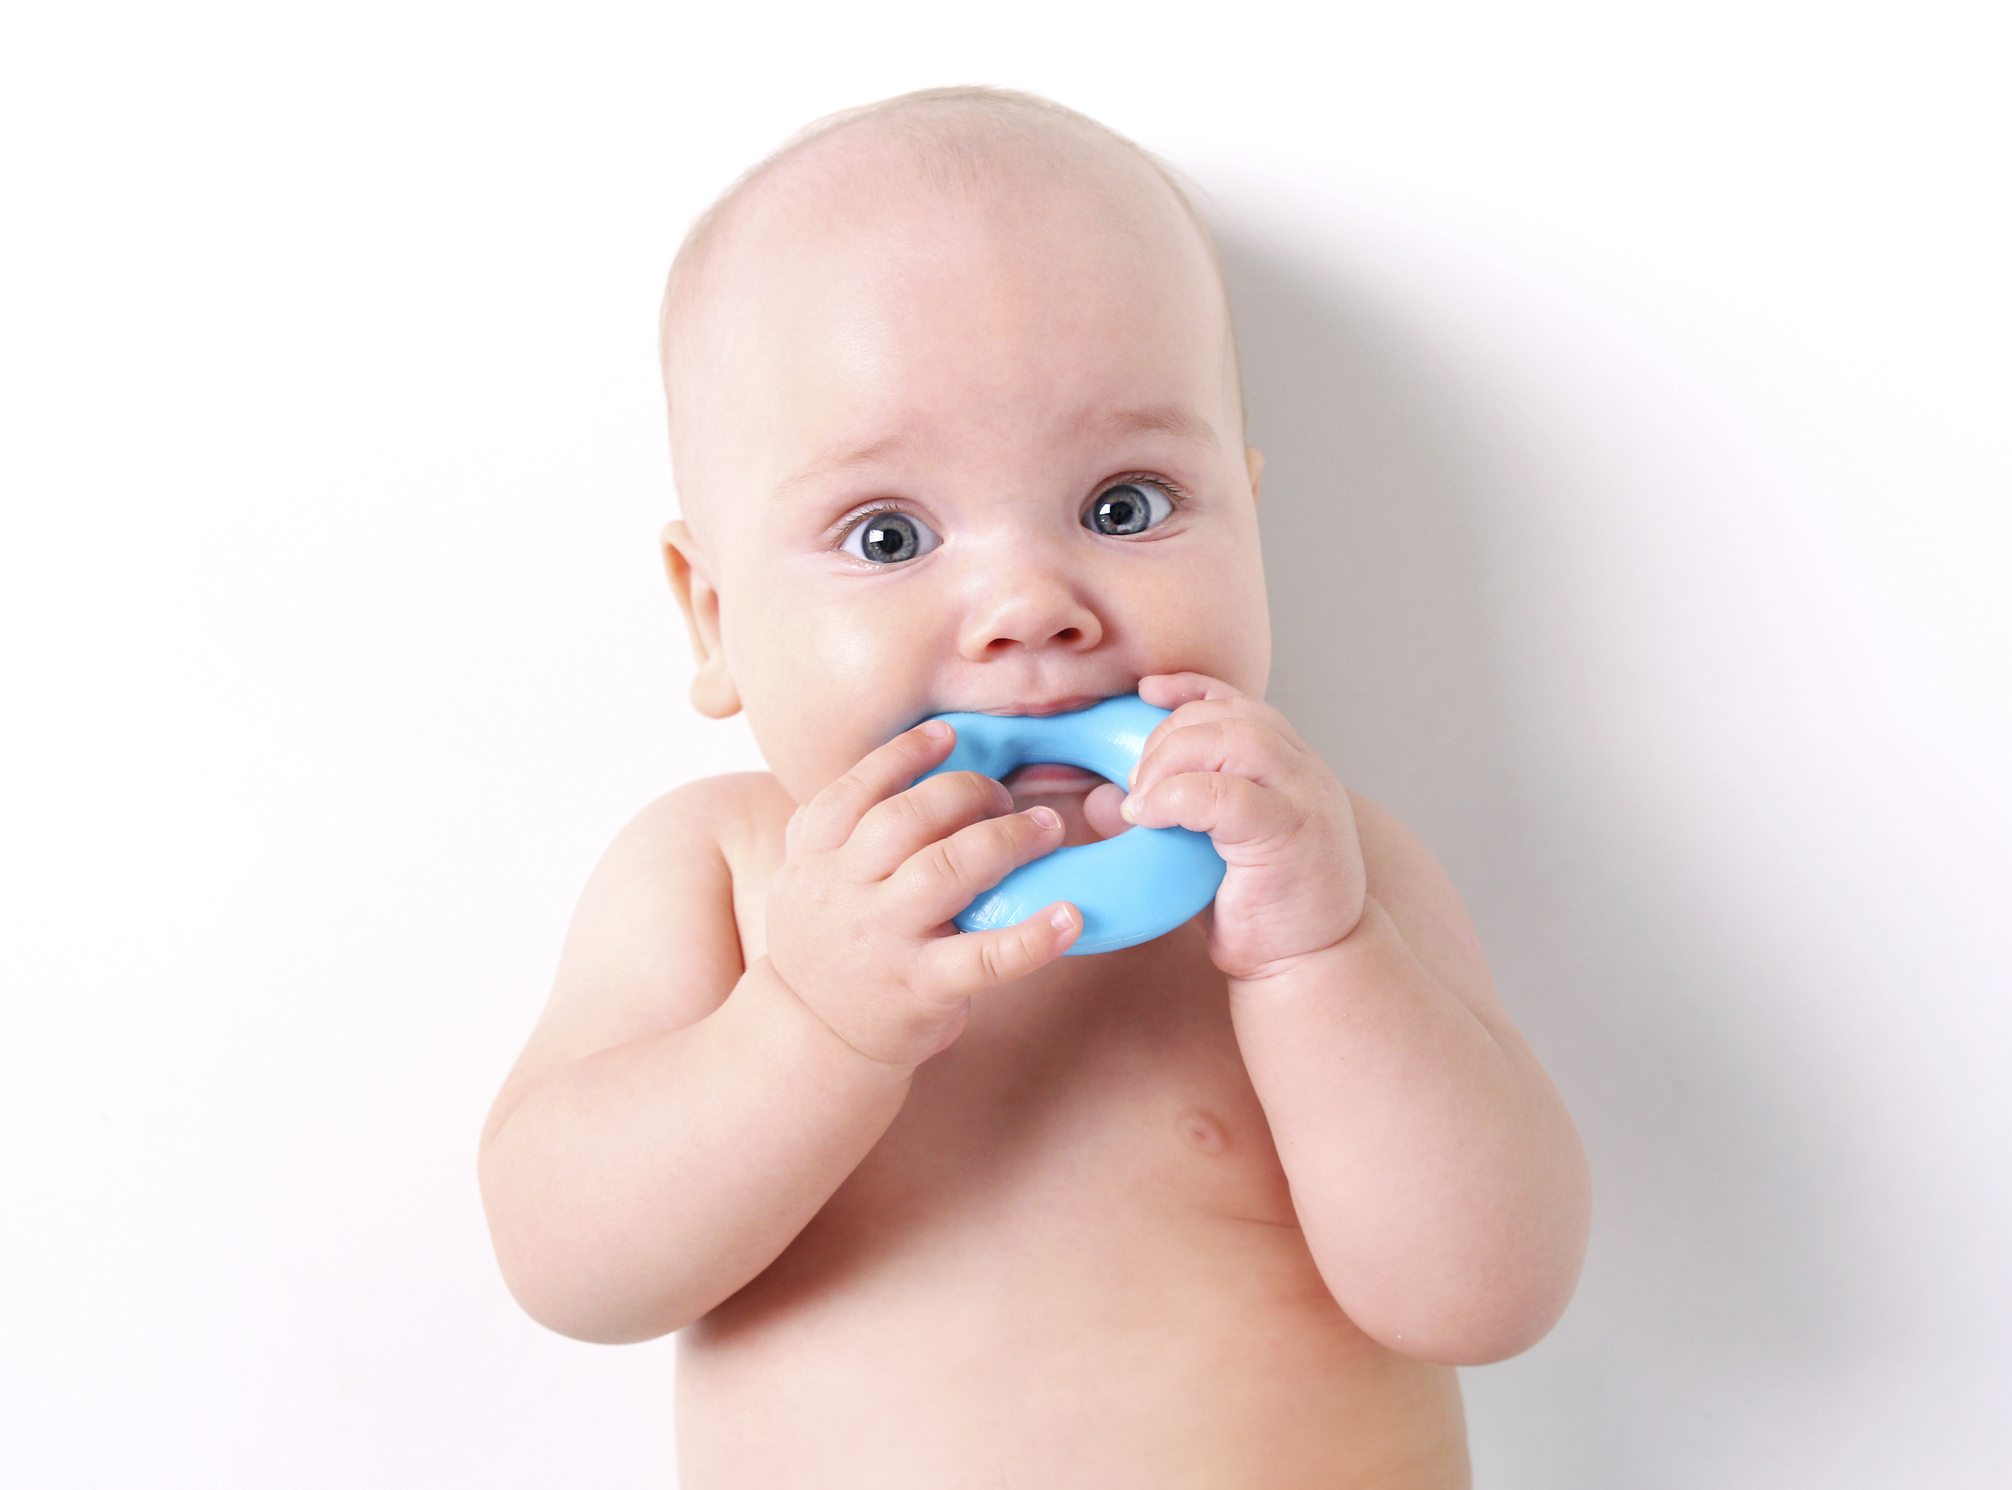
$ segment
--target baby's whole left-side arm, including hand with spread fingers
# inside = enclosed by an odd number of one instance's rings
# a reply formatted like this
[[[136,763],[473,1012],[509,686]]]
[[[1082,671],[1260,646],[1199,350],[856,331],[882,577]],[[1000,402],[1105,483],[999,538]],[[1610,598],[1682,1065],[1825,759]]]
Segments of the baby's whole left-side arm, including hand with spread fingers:
[[[535,1319],[634,1341],[732,1295],[879,1140],[972,993],[1072,941],[1072,913],[940,935],[1060,841],[980,776],[901,790],[948,754],[948,730],[911,730],[791,820],[750,967],[720,845],[781,816],[773,782],[688,786],[616,839],[483,1132],[497,1259]]]

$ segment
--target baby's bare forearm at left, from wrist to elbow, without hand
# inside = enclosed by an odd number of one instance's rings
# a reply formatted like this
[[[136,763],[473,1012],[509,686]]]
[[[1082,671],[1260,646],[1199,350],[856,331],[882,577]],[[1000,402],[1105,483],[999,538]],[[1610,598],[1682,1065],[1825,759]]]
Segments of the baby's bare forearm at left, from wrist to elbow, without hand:
[[[775,1261],[907,1086],[761,961],[698,1023],[579,1060],[493,1120],[481,1174],[503,1275],[559,1333],[670,1333]]]

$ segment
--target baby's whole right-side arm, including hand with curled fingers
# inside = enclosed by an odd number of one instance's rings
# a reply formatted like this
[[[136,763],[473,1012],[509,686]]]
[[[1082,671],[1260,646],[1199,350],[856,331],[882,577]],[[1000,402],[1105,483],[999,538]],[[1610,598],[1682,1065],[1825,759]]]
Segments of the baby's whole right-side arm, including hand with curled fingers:
[[[1177,712],[1127,814],[1229,861],[1209,951],[1328,1289],[1406,1355],[1527,1349],[1577,1281],[1585,1158],[1453,885],[1276,710],[1193,674],[1141,694]]]

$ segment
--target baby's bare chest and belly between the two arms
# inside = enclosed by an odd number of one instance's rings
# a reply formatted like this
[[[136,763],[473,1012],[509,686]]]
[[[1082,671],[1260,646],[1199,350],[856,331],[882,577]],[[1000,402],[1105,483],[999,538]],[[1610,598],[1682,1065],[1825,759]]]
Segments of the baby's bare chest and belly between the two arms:
[[[924,1066],[684,1333],[686,1490],[1467,1484],[1453,1371],[1314,1269],[1191,939],[1016,987]]]

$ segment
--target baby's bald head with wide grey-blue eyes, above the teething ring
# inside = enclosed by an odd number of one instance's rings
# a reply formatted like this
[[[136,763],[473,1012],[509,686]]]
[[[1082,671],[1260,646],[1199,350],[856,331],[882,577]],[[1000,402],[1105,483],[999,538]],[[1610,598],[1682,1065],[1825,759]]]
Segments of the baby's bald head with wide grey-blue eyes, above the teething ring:
[[[664,380],[692,700],[799,800],[930,714],[1264,692],[1221,273],[1101,125],[944,90],[813,127],[680,251]]]

